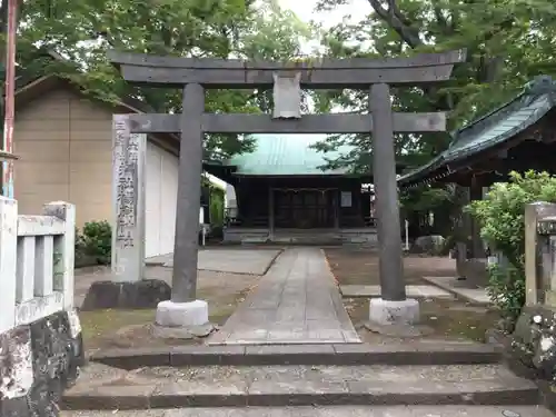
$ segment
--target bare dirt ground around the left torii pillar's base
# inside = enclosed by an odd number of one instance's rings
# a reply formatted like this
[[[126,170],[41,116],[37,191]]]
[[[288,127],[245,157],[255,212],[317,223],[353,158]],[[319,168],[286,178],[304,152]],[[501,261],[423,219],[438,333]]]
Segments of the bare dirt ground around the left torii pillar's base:
[[[76,271],[76,301],[82,301],[95,280],[107,275],[107,268],[83,268]],[[171,279],[171,269],[147,267],[147,278]],[[224,325],[247,294],[255,288],[260,276],[228,272],[199,271],[197,294],[209,305],[209,319]],[[168,345],[203,344],[206,339],[179,340],[152,337],[155,310],[96,310],[80,311],[86,350],[128,347],[160,347]]]

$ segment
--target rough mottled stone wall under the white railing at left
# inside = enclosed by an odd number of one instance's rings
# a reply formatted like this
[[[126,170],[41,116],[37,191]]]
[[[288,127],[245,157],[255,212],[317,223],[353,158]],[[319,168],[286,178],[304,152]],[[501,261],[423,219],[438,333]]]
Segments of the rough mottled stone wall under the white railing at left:
[[[53,417],[85,360],[75,310],[58,311],[0,335],[0,416]]]

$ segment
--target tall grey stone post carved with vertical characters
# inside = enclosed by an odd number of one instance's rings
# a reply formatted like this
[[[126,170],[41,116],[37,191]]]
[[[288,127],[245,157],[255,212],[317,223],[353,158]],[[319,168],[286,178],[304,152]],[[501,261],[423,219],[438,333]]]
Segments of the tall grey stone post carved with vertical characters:
[[[130,132],[128,115],[113,116],[112,279],[137,282],[145,267],[147,136]]]

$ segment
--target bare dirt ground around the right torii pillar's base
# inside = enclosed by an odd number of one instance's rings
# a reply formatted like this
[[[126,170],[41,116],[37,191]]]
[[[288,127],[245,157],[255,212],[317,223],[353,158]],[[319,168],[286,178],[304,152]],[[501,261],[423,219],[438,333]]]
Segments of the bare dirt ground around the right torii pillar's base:
[[[378,257],[376,252],[361,249],[325,249],[328,262],[340,285],[379,285]],[[406,284],[429,285],[424,276],[455,276],[455,261],[440,257],[408,255],[404,258]],[[471,305],[458,299],[427,298],[420,300],[421,324],[427,330],[421,339],[475,340],[484,341],[485,331],[495,327],[499,315],[493,308]],[[391,337],[379,336],[363,327],[368,319],[368,298],[344,298],[359,336],[367,342],[399,341]]]

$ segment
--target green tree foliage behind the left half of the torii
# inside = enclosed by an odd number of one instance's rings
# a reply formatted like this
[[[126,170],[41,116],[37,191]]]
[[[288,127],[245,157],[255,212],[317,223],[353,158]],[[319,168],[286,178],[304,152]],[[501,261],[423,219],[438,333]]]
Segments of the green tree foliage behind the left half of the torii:
[[[3,3],[7,3],[6,1]],[[0,22],[1,24],[1,22]],[[59,73],[108,101],[129,96],[159,112],[176,112],[181,91],[126,83],[107,61],[109,49],[178,57],[287,59],[312,29],[276,0],[24,0],[18,62],[30,72]],[[44,68],[37,46],[63,62]],[[207,111],[256,112],[264,91],[207,92]],[[210,135],[206,148],[229,156],[248,149],[242,136]]]

